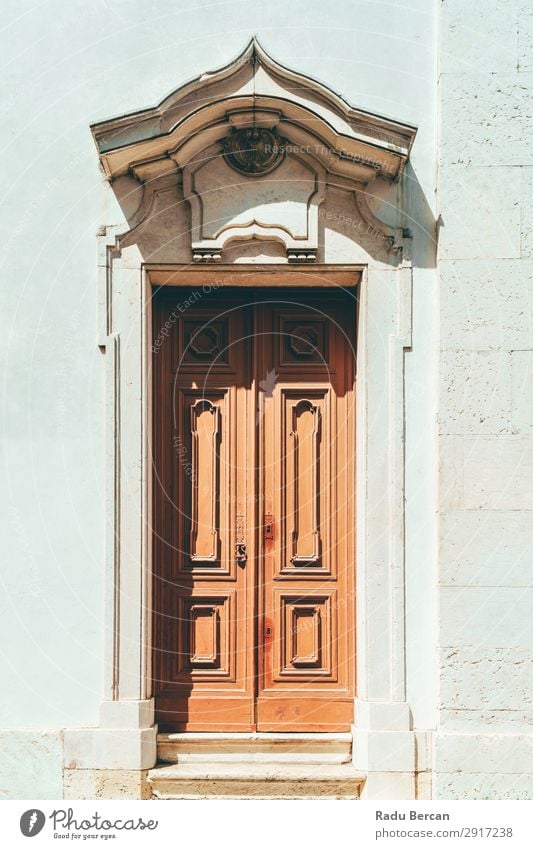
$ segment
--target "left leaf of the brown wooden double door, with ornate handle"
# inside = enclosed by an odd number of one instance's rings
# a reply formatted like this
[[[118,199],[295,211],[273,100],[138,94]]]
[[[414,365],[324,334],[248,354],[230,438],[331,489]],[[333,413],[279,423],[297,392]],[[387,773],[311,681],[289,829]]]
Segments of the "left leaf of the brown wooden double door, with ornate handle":
[[[253,568],[235,556],[253,546],[251,312],[215,295],[184,309],[191,297],[155,308],[155,338],[170,327],[154,356],[157,719],[243,731],[255,725]]]

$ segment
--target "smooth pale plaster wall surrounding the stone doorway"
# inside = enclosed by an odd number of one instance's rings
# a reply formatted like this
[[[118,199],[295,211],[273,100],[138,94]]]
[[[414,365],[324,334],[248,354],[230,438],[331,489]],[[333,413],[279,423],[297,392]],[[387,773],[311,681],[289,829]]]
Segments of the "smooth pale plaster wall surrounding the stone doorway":
[[[8,3],[0,663],[9,699],[0,725],[95,725],[102,696],[104,363],[95,237],[122,213],[89,124],[158,102],[226,63],[256,33],[280,62],[420,128],[400,195],[415,265],[406,363],[407,688],[414,725],[433,726],[436,15],[427,0],[337,0],[327,8],[317,0]],[[390,202],[384,192],[384,218]],[[516,416],[527,418],[518,402]]]

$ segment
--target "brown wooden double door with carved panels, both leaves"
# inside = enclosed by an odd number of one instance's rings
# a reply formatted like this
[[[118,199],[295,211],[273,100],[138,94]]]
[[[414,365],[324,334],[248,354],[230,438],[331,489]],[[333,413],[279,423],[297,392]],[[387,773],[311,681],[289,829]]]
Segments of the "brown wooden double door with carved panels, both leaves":
[[[353,719],[355,302],[154,296],[154,693],[162,730]]]

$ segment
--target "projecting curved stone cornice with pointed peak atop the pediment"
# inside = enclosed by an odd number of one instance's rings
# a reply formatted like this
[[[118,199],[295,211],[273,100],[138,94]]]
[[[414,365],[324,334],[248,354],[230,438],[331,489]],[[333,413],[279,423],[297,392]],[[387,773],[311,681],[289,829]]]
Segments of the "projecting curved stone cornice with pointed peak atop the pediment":
[[[248,126],[256,110],[256,125],[265,110],[277,111],[280,135],[294,144],[307,126],[306,140],[314,136],[312,152],[328,158],[330,170],[341,175],[357,167],[357,178],[367,177],[363,182],[378,174],[397,180],[416,134],[414,127],[356,109],[316,80],[285,68],[253,38],[229,65],[186,83],[158,106],[94,124],[106,174],[113,179],[133,164],[170,155],[184,164],[207,146],[206,136],[211,144],[227,134],[228,107],[233,113],[250,111]]]

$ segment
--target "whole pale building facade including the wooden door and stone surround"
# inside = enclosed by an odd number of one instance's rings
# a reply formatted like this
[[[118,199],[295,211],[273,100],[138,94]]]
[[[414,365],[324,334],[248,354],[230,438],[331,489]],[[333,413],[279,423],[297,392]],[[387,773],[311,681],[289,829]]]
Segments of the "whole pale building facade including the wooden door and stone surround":
[[[527,4],[101,11],[6,45],[3,798],[190,794],[216,731],[531,798]]]

